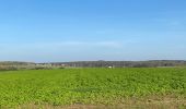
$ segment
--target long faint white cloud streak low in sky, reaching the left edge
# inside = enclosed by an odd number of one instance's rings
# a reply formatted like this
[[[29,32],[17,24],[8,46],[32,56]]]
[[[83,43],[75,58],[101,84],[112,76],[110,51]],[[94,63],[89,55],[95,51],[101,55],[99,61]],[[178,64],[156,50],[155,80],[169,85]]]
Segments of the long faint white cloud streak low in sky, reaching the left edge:
[[[50,41],[50,43],[28,43],[28,44],[0,44],[1,48],[14,49],[16,51],[20,50],[56,50],[56,49],[89,49],[89,48],[97,48],[97,49],[121,49],[126,48],[129,45],[137,44],[138,40],[107,40],[107,41]]]

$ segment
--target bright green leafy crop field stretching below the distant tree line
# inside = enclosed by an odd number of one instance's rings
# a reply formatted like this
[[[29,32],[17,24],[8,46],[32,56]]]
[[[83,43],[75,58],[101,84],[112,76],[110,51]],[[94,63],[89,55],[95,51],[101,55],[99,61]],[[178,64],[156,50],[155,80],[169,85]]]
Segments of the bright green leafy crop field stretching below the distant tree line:
[[[0,72],[0,108],[127,106],[186,108],[185,68],[61,69]],[[174,107],[174,108],[175,108]]]

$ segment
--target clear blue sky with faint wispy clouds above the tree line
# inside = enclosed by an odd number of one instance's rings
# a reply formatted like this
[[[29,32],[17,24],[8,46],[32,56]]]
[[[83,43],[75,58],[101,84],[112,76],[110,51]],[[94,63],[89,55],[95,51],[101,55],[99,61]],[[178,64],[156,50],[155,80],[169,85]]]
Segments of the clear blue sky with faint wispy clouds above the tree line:
[[[0,0],[0,61],[186,60],[186,0]]]

